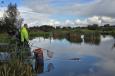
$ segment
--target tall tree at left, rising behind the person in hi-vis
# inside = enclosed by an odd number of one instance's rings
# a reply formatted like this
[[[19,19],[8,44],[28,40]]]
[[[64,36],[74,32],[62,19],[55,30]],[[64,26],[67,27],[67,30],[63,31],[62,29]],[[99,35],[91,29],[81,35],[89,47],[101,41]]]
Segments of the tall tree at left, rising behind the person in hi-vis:
[[[19,19],[19,11],[16,4],[9,4],[7,10],[4,13],[4,26],[8,34],[14,35],[20,24],[22,23],[22,18]]]

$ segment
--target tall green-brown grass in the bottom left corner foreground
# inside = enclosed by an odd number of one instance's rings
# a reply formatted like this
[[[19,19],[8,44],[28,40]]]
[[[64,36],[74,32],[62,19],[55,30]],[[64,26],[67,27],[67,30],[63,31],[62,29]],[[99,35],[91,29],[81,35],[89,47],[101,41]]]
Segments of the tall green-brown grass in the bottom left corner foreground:
[[[34,76],[31,65],[18,59],[0,63],[0,76]]]

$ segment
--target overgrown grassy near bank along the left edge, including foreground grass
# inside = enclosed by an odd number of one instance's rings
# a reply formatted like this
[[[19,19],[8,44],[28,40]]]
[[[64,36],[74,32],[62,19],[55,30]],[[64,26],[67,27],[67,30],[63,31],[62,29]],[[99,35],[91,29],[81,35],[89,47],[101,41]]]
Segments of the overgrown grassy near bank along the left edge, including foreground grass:
[[[0,61],[0,76],[35,76],[32,66],[25,63],[22,58],[27,56],[22,54],[25,49],[21,48],[21,53],[17,56],[16,41],[6,33],[0,33],[0,52],[7,52],[11,55],[8,61]]]

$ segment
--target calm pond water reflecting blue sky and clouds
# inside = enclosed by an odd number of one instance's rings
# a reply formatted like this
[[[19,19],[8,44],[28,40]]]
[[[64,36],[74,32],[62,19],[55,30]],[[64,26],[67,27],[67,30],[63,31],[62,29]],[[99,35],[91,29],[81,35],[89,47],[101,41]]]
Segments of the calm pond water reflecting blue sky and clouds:
[[[82,35],[78,43],[66,38],[31,40],[33,46],[53,52],[51,58],[46,50],[43,51],[44,65],[38,76],[115,76],[115,39],[109,35],[100,36],[95,44],[94,40],[85,41],[84,37]]]

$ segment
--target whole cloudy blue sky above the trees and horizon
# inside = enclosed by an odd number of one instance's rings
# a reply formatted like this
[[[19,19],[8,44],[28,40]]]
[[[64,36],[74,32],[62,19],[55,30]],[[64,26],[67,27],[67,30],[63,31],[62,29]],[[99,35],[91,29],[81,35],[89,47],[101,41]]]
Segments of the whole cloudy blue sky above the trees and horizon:
[[[115,25],[115,0],[0,0],[0,17],[9,3],[16,3],[24,23],[82,27]]]

